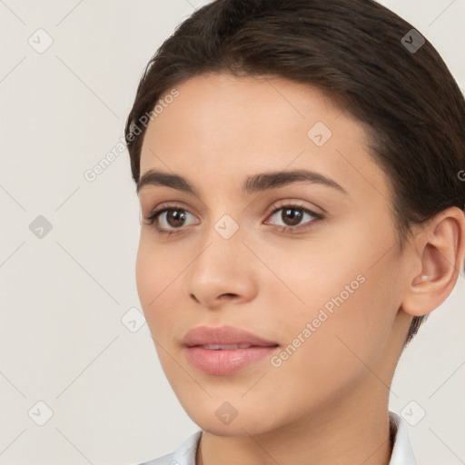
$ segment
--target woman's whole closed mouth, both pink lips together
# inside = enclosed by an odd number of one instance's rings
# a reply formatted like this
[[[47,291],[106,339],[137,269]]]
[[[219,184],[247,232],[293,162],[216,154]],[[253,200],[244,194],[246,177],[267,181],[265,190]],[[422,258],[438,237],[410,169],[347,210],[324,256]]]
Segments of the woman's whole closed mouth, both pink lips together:
[[[275,341],[267,341],[252,332],[232,326],[199,326],[185,334],[182,344],[185,357],[194,368],[207,374],[223,376],[270,357],[279,348]],[[213,344],[248,344],[251,347],[220,350],[202,347]]]

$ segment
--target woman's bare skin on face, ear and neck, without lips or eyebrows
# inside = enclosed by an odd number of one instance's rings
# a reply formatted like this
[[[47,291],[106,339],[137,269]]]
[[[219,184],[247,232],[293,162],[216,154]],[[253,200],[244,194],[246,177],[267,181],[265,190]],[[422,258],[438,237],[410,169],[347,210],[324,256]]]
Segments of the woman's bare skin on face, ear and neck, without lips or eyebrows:
[[[196,463],[387,465],[393,372],[412,317],[439,306],[455,285],[463,213],[442,212],[401,250],[389,180],[364,128],[318,89],[228,74],[176,88],[179,96],[147,127],[141,173],[179,174],[198,195],[143,186],[136,282],[163,371],[204,431]],[[316,122],[332,133],[320,147],[307,135]],[[302,181],[240,190],[253,174],[294,169],[322,173],[346,193]],[[177,229],[166,213],[159,217],[170,235],[145,223],[162,203],[187,211]],[[289,217],[272,214],[273,205],[294,203],[322,219],[305,215],[299,231],[283,231]],[[239,226],[227,240],[214,229],[225,214]],[[358,275],[365,281],[278,368],[265,358],[213,376],[185,358],[184,334],[204,324],[285,348]],[[229,425],[215,415],[225,401],[238,412]]]

